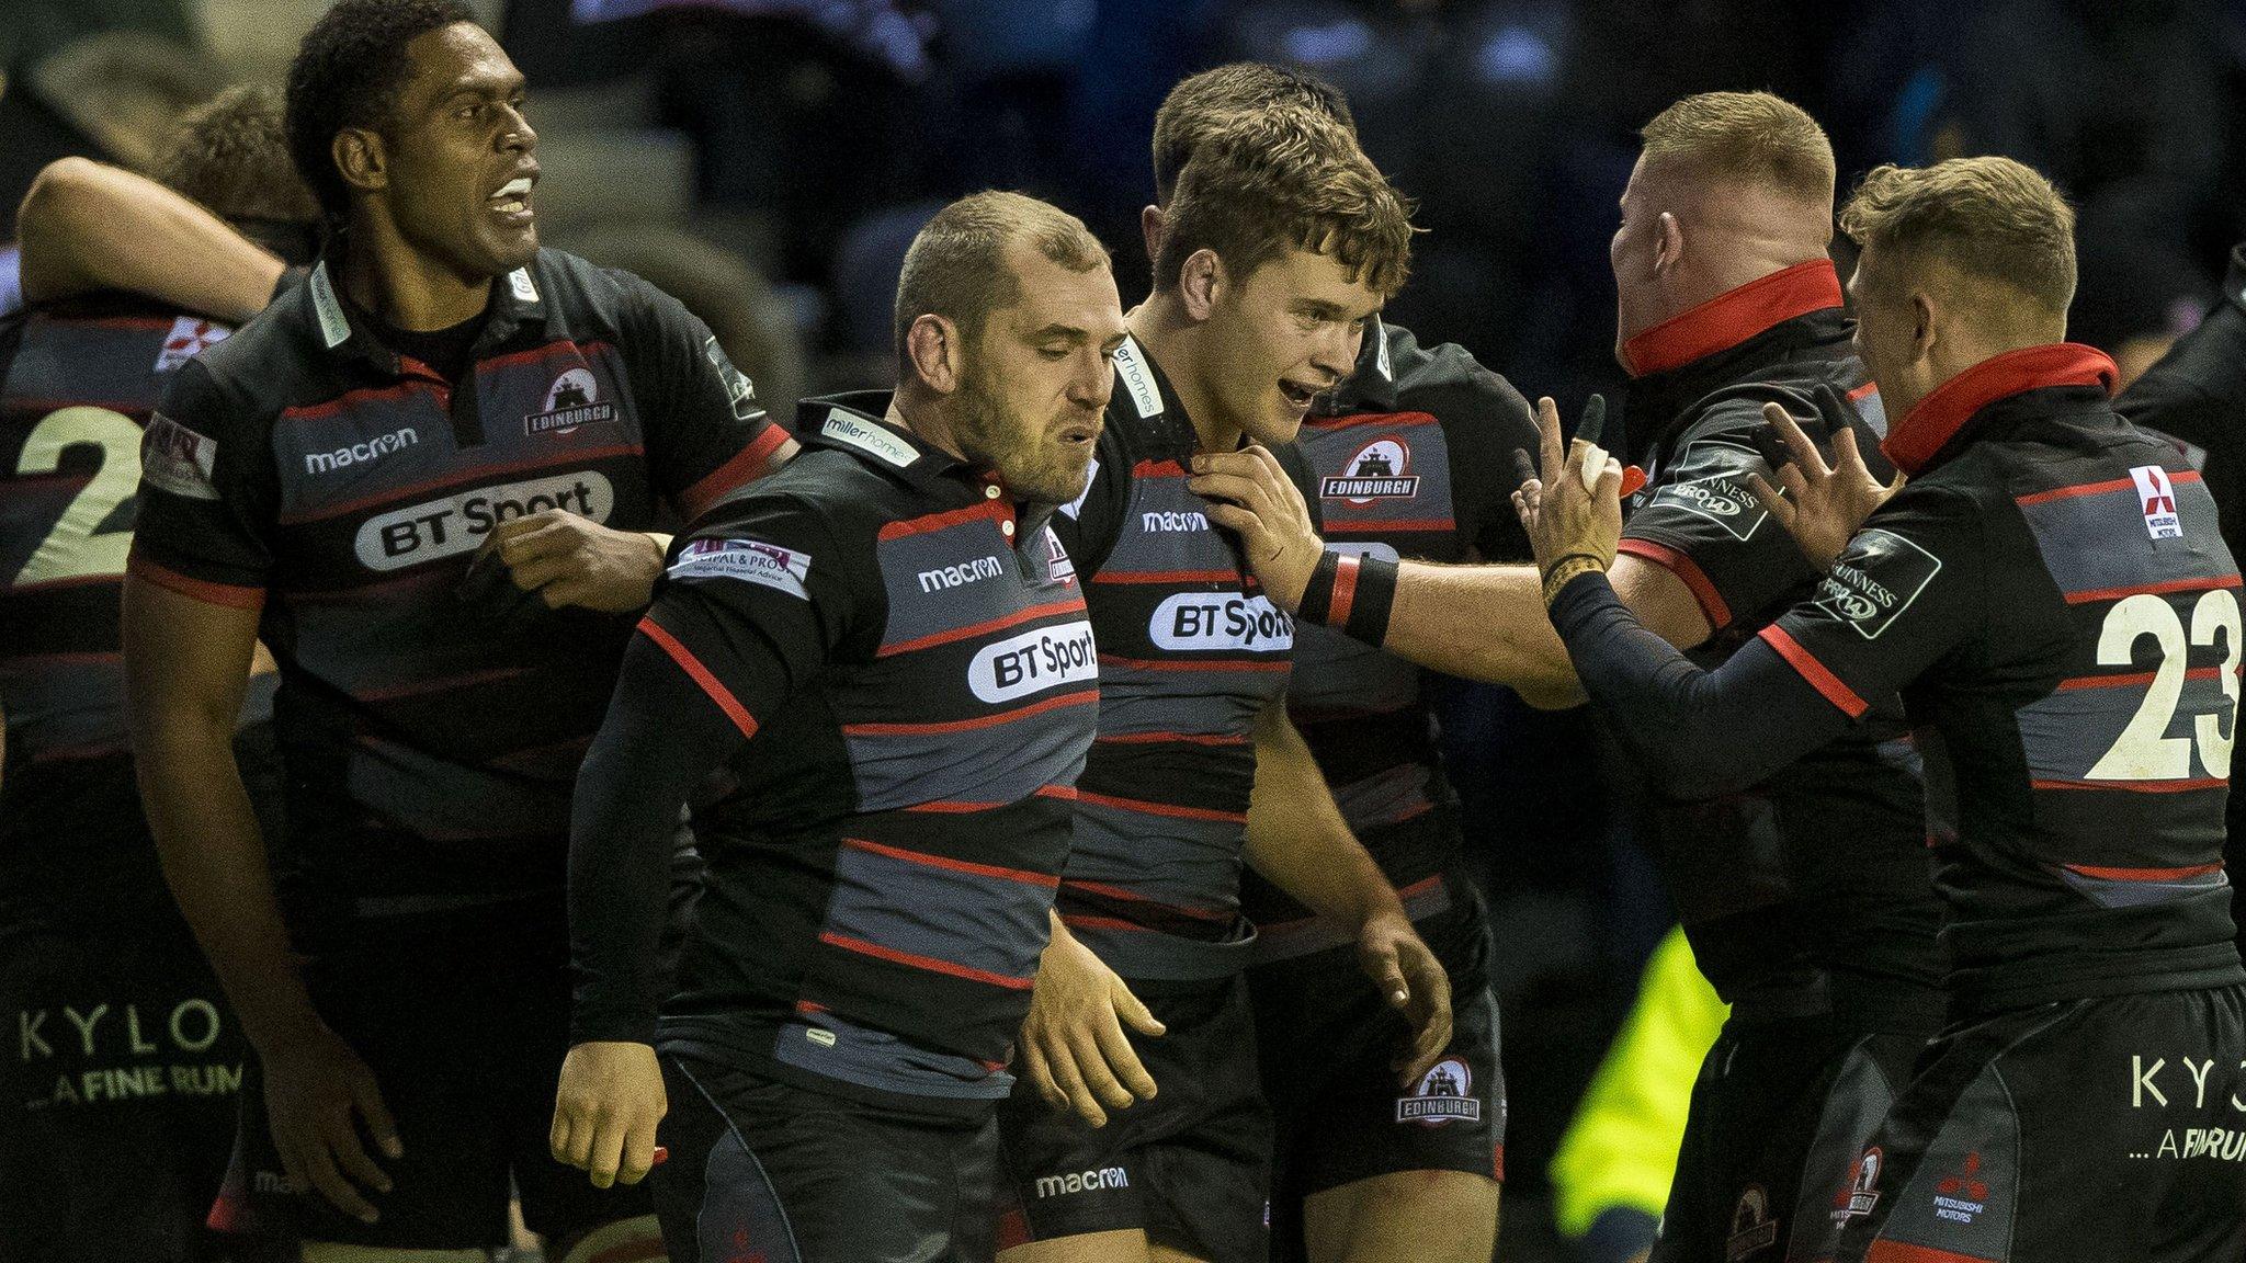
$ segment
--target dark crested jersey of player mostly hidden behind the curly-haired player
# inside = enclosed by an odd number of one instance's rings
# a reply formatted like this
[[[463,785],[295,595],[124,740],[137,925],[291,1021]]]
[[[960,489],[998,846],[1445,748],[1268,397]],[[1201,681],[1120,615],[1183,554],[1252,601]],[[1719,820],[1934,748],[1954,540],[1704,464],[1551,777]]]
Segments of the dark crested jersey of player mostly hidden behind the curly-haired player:
[[[1530,555],[1509,501],[1514,449],[1536,449],[1527,400],[1455,344],[1419,346],[1375,321],[1357,371],[1303,422],[1325,546],[1424,562],[1516,562]],[[1294,629],[1287,710],[1309,742],[1350,829],[1404,894],[1413,917],[1451,906],[1442,872],[1464,845],[1442,775],[1431,674],[1332,627]],[[1242,901],[1258,960],[1336,939],[1269,881],[1247,874]]]

